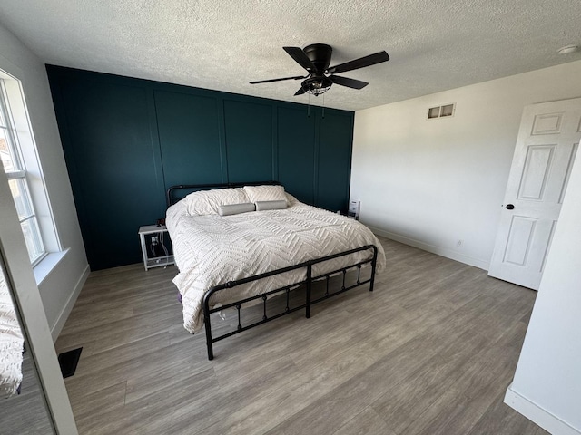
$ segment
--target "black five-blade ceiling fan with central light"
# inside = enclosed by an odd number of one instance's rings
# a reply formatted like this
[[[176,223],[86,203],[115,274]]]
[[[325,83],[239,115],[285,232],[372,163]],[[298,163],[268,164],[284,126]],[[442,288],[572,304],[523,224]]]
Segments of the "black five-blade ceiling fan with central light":
[[[375,65],[376,63],[389,61],[388,53],[383,51],[329,67],[333,49],[326,43],[311,43],[304,49],[300,47],[282,47],[282,49],[289,53],[291,58],[307,70],[309,74],[283,77],[281,79],[259,80],[258,82],[251,82],[251,84],[302,79],[300,89],[295,92],[295,95],[302,95],[308,92],[315,96],[327,92],[333,84],[339,84],[340,86],[346,86],[352,89],[363,89],[369,84],[368,82],[341,77],[340,75],[335,75],[335,73],[346,73],[348,71],[358,70],[359,68],[365,68],[366,66]]]

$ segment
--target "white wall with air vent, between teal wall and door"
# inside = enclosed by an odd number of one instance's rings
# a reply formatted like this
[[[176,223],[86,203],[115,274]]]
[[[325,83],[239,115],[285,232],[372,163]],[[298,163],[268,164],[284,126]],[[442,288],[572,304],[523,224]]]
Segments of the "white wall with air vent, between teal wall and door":
[[[523,107],[581,96],[579,77],[581,61],[357,111],[350,198],[361,221],[487,269]],[[450,102],[453,117],[426,120]]]

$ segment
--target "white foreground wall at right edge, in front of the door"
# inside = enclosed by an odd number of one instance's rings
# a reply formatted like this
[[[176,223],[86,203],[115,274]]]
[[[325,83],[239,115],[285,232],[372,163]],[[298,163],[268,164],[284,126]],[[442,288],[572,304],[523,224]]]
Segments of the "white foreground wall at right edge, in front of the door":
[[[551,433],[581,434],[581,159],[576,159],[505,401]]]

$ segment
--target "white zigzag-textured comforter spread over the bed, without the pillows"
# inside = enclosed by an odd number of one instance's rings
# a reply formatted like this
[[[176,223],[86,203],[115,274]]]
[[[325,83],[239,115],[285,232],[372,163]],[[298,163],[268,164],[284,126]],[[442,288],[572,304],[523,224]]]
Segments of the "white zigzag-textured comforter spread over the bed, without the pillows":
[[[377,270],[385,266],[379,240],[359,222],[298,201],[282,210],[254,211],[233,216],[190,216],[182,202],[167,210],[166,225],[180,273],[173,279],[183,304],[183,325],[195,333],[203,325],[203,295],[214,285],[258,275],[310,259],[364,245],[378,247]],[[348,266],[371,256],[361,251],[313,266],[313,276]],[[304,279],[306,268],[274,275],[212,296],[212,304],[227,304],[242,296],[290,285]]]

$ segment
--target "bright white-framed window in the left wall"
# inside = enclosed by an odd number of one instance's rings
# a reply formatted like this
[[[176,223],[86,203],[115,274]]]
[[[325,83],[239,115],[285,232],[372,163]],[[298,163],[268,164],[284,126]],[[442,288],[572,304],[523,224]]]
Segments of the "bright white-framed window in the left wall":
[[[15,129],[15,121],[6,95],[5,80],[0,79],[0,156],[15,199],[28,256],[34,266],[45,256],[46,250],[34,212],[23,153],[18,142],[18,131]]]

